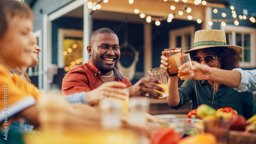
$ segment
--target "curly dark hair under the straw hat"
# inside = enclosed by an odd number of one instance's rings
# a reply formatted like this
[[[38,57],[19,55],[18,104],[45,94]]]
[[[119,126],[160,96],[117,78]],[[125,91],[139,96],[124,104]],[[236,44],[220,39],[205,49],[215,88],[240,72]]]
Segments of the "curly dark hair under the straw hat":
[[[212,53],[212,56],[217,56],[223,70],[232,70],[240,67],[240,56],[233,49],[227,47],[211,47],[202,50],[204,53]],[[196,56],[198,50],[189,52],[190,57]]]

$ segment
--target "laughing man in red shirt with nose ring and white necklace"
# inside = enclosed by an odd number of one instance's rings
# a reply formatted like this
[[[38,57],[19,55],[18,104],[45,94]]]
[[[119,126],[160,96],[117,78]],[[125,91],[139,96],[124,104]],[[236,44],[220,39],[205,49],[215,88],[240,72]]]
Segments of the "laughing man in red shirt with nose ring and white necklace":
[[[88,92],[105,82],[117,81],[127,85],[130,96],[145,96],[158,98],[162,94],[154,91],[164,89],[150,83],[160,83],[157,80],[143,77],[134,85],[122,76],[114,67],[120,58],[119,40],[115,32],[109,28],[100,28],[90,37],[87,51],[90,59],[83,65],[74,66],[63,78],[63,95],[78,92]]]

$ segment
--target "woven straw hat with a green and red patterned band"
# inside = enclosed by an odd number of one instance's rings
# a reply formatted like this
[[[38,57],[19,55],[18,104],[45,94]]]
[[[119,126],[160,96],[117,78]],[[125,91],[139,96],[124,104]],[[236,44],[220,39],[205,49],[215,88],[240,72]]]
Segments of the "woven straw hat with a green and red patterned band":
[[[233,49],[237,54],[240,54],[243,49],[239,46],[231,46],[226,43],[225,32],[218,29],[203,29],[195,32],[194,48],[184,51],[188,53],[193,50],[199,50],[212,47],[227,47]]]

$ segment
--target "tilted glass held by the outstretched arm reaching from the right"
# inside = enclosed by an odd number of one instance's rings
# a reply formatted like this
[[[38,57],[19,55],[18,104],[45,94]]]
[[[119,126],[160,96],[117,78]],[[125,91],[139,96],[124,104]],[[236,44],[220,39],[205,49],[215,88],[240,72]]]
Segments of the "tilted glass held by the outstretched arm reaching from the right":
[[[179,68],[181,65],[185,66],[183,70],[178,71],[179,78],[181,80],[184,80],[187,77],[194,76],[194,72],[191,70],[192,62],[189,53],[175,57],[174,61],[176,63],[177,68]]]

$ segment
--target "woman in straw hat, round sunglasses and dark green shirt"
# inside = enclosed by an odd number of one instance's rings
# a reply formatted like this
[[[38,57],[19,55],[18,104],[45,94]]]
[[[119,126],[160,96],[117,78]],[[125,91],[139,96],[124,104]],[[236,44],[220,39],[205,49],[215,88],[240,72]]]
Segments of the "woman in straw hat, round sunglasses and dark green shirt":
[[[222,30],[199,30],[195,33],[194,48],[183,53],[190,53],[192,61],[223,70],[239,68],[239,54],[242,48],[226,45],[225,32]],[[161,68],[167,68],[167,57],[162,52]],[[193,62],[194,63],[194,62]],[[169,76],[167,102],[170,108],[178,109],[192,100],[191,109],[207,104],[214,109],[232,107],[246,119],[256,114],[256,104],[252,92],[239,93],[211,80],[186,80],[181,87],[178,76]]]

